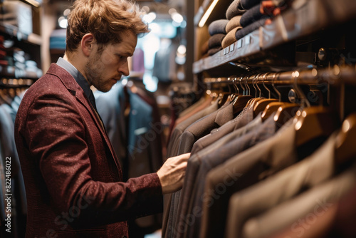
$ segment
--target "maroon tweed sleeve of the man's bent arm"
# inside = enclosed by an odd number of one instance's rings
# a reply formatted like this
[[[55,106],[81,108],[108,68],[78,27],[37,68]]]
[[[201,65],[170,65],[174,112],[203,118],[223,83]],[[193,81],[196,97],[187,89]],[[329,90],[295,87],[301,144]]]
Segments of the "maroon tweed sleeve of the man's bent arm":
[[[73,224],[93,226],[162,212],[157,173],[127,182],[93,180],[88,129],[70,98],[41,96],[26,118],[23,138],[58,214],[72,212]]]

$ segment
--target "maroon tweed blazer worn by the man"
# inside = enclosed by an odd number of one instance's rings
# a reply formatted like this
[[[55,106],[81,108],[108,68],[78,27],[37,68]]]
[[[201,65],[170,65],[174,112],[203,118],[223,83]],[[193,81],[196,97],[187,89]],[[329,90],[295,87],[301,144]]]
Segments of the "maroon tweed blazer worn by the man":
[[[157,174],[122,182],[93,106],[55,63],[23,97],[15,140],[28,202],[26,237],[128,237],[128,219],[162,212]]]

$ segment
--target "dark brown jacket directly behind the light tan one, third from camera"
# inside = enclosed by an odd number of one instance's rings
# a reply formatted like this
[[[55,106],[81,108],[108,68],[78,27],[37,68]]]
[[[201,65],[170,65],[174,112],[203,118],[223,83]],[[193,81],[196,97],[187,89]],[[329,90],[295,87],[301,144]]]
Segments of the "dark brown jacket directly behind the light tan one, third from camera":
[[[297,161],[294,123],[272,138],[232,157],[206,175],[200,237],[224,237],[229,198]]]

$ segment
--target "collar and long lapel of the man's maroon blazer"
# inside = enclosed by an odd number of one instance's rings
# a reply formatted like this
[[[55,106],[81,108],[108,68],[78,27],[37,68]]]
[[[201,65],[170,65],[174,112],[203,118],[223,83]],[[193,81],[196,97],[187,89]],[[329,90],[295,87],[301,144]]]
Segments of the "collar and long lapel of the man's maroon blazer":
[[[75,79],[70,75],[70,73],[68,73],[65,69],[61,68],[60,66],[57,66],[55,63],[51,64],[51,67],[48,69],[47,73],[57,76],[62,81],[63,85],[66,86],[70,94],[75,95],[75,98],[77,98],[77,100],[81,104],[83,104],[85,108],[88,110],[95,124],[99,128],[100,134],[103,136],[105,143],[108,145],[112,158],[115,161],[117,170],[119,171],[120,180],[122,180],[122,171],[120,169],[120,165],[117,160],[115,151],[112,148],[112,144],[110,143],[110,140],[108,138],[108,133],[106,133],[103,122],[100,120],[100,116],[95,111],[93,105],[91,105],[88,98],[84,95],[83,89],[80,88],[80,86],[78,85],[78,83],[76,83]]]

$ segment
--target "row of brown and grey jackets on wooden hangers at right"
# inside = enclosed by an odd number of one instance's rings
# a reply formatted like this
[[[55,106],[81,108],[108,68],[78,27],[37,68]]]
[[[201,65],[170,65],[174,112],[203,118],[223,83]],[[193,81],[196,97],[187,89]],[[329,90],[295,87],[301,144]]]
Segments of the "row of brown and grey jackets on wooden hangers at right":
[[[355,76],[335,66],[209,83],[218,96],[183,112],[169,140],[167,156],[191,157],[182,190],[164,197],[163,237],[355,237],[355,202],[340,202],[356,189]]]

